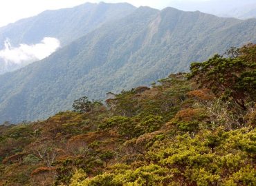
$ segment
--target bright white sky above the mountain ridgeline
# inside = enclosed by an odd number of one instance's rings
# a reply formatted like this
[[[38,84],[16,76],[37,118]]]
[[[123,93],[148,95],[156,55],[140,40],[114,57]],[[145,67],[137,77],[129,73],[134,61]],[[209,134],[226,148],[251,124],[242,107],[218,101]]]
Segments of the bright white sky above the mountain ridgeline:
[[[101,0],[102,1],[102,0]],[[103,0],[106,3],[127,2],[134,6],[150,6],[163,9],[177,1],[211,1],[211,0]],[[0,27],[13,23],[19,19],[32,17],[44,10],[70,8],[82,3],[98,3],[98,0],[1,0],[0,1]]]

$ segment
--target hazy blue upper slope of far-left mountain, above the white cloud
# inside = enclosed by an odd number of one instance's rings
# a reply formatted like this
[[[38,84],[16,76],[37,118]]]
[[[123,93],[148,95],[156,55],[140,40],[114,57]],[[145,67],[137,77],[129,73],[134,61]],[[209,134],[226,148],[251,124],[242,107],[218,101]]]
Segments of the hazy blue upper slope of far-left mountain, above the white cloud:
[[[0,49],[7,38],[13,46],[17,46],[39,43],[44,37],[55,37],[64,46],[107,21],[125,17],[135,9],[128,3],[85,3],[74,8],[47,10],[0,28]]]

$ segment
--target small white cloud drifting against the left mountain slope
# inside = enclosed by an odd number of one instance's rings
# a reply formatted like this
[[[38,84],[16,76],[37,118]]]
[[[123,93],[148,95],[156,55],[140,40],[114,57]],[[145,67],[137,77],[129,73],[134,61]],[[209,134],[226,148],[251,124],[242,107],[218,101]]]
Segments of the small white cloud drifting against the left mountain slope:
[[[10,41],[6,39],[5,49],[0,50],[0,59],[3,59],[6,63],[27,65],[46,58],[57,48],[60,48],[60,41],[52,37],[45,37],[41,43],[34,45],[20,44],[17,48],[13,48]]]

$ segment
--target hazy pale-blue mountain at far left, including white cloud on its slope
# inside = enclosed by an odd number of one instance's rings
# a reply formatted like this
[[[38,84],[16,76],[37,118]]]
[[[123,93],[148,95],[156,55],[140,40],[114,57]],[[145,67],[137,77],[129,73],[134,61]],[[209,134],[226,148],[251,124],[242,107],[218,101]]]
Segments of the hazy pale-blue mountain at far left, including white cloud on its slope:
[[[2,27],[0,28],[0,74],[44,59],[47,54],[38,56],[42,45],[44,50],[52,48],[59,42],[63,47],[104,23],[127,16],[135,9],[128,3],[85,3],[74,8],[47,10],[35,17]],[[58,41],[45,43],[46,38]],[[5,43],[10,48],[6,47]],[[53,48],[51,53],[55,52],[59,45]],[[14,59],[12,56],[19,56],[20,59]]]

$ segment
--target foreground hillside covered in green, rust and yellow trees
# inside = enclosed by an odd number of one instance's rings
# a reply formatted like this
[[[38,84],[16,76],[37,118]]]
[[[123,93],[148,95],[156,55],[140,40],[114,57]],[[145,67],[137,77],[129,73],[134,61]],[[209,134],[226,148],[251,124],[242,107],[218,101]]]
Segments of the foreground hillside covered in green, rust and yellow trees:
[[[0,185],[255,185],[256,45],[232,51],[108,107],[0,125]]]

